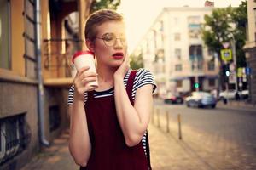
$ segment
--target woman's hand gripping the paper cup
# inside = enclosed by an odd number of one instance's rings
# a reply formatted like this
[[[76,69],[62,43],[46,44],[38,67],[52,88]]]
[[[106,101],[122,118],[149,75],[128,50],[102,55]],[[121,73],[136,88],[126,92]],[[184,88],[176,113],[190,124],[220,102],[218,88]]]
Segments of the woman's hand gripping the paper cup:
[[[73,79],[74,89],[81,97],[84,97],[84,92],[93,89],[88,85],[88,82],[96,81],[97,74],[95,72],[88,71],[89,69],[90,66],[79,69]]]

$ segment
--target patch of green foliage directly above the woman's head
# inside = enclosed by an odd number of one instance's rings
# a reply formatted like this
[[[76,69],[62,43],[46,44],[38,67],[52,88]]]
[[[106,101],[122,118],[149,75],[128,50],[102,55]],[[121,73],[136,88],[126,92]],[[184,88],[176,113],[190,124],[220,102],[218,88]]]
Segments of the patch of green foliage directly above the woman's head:
[[[90,14],[102,8],[115,10],[118,8],[119,5],[120,0],[93,0],[90,5]]]

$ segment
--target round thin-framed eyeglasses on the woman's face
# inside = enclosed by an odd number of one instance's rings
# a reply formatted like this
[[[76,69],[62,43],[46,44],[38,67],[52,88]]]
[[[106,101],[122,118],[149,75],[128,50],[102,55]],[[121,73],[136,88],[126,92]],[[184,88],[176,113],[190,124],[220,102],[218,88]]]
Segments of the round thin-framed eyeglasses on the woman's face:
[[[96,37],[97,39],[102,39],[106,46],[112,47],[116,44],[117,40],[119,39],[123,46],[126,45],[126,38],[119,37],[117,38],[114,33],[106,33],[102,37]]]

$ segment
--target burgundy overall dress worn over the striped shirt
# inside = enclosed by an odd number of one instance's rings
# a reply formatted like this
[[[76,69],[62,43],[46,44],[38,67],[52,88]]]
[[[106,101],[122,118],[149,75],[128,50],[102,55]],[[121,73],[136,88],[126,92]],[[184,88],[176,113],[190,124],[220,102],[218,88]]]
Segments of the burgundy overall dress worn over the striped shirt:
[[[129,79],[127,87],[132,88],[133,80]],[[92,150],[87,167],[80,169],[148,170],[142,142],[133,147],[125,144],[113,95],[94,98],[94,91],[88,92],[84,107]]]

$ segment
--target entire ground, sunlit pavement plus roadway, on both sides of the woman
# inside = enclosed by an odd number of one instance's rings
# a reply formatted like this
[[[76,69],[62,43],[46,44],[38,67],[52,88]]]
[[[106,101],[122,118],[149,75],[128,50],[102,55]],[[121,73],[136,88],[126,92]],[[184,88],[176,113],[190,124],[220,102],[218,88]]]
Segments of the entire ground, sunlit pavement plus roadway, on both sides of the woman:
[[[181,140],[178,139],[177,114],[181,115]],[[254,170],[255,122],[253,109],[232,105],[195,109],[154,100],[154,113],[148,127],[152,167],[154,170]],[[69,154],[68,138],[68,131],[62,133],[22,170],[79,169]]]

